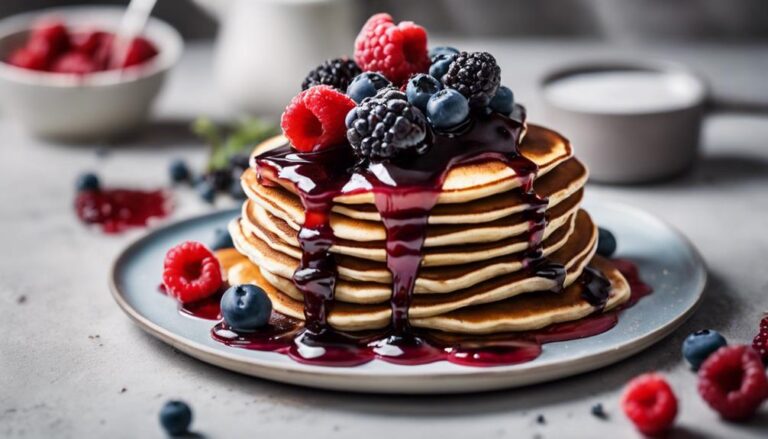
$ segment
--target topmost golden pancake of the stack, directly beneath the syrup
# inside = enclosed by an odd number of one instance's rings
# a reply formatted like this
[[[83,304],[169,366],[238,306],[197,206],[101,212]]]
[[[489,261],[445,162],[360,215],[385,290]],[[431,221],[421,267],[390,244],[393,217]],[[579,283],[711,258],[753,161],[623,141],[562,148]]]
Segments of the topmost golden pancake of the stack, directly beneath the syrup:
[[[276,136],[257,146],[254,155],[258,156],[286,143],[285,137]],[[539,167],[538,176],[541,177],[571,158],[573,150],[568,140],[555,131],[529,124],[520,144],[520,153]],[[292,184],[269,173],[264,173],[263,176],[296,193],[296,188]],[[521,177],[501,161],[456,166],[448,171],[437,203],[465,203],[504,193],[519,188],[523,180]],[[370,187],[364,186],[363,189],[370,189]],[[373,204],[374,196],[372,191],[363,190],[354,194],[338,195],[333,200],[341,204]]]

